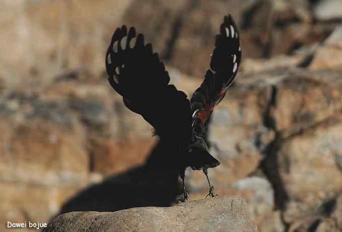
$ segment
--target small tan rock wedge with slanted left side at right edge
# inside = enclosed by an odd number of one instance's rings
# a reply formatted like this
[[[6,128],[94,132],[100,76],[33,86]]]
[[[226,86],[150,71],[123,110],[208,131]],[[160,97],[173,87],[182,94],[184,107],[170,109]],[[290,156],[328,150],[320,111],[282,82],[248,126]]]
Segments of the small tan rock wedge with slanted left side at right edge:
[[[342,69],[342,26],[336,27],[332,34],[324,41],[315,52],[309,68],[319,69]]]

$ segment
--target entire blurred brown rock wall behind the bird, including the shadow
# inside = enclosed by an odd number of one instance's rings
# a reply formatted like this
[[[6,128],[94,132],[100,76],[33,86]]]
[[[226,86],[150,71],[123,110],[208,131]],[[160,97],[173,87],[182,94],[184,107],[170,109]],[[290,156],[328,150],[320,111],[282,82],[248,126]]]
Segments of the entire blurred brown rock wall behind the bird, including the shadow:
[[[1,224],[174,204],[177,175],[150,168],[163,151],[110,88],[104,54],[116,27],[135,26],[191,95],[231,13],[243,63],[211,118],[216,192],[244,198],[260,231],[342,230],[340,0],[1,4]],[[205,197],[202,172],[186,182]]]

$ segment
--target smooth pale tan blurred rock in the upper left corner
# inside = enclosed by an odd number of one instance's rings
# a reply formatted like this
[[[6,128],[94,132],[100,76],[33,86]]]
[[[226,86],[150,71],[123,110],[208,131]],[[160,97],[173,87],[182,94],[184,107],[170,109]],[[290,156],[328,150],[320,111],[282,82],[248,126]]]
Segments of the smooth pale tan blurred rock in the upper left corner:
[[[32,80],[49,83],[62,69],[85,67],[100,76],[112,33],[130,2],[5,1],[0,49],[7,55],[0,57],[0,76],[10,87]]]

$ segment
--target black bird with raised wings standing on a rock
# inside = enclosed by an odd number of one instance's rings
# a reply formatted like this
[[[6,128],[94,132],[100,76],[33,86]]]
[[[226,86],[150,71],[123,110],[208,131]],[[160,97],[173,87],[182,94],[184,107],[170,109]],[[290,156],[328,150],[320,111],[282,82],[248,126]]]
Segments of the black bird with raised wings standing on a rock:
[[[187,94],[169,84],[170,77],[151,43],[134,27],[118,27],[107,49],[106,70],[112,88],[123,97],[131,111],[140,114],[160,138],[172,157],[165,158],[165,168],[178,170],[183,184],[182,202],[189,200],[185,170],[202,170],[209,193],[215,197],[208,178],[208,168],[220,162],[209,153],[205,140],[207,122],[215,106],[226,95],[241,63],[240,36],[230,14],[223,17],[202,84]]]

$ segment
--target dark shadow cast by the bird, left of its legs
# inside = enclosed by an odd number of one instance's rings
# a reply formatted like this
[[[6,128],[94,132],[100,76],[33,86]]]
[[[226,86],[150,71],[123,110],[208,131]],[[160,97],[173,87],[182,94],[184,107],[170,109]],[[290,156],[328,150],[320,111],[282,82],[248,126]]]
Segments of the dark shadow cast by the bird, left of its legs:
[[[114,212],[132,207],[173,205],[182,188],[178,169],[165,165],[172,156],[164,151],[158,142],[143,165],[80,191],[62,206],[58,215],[71,211]]]

